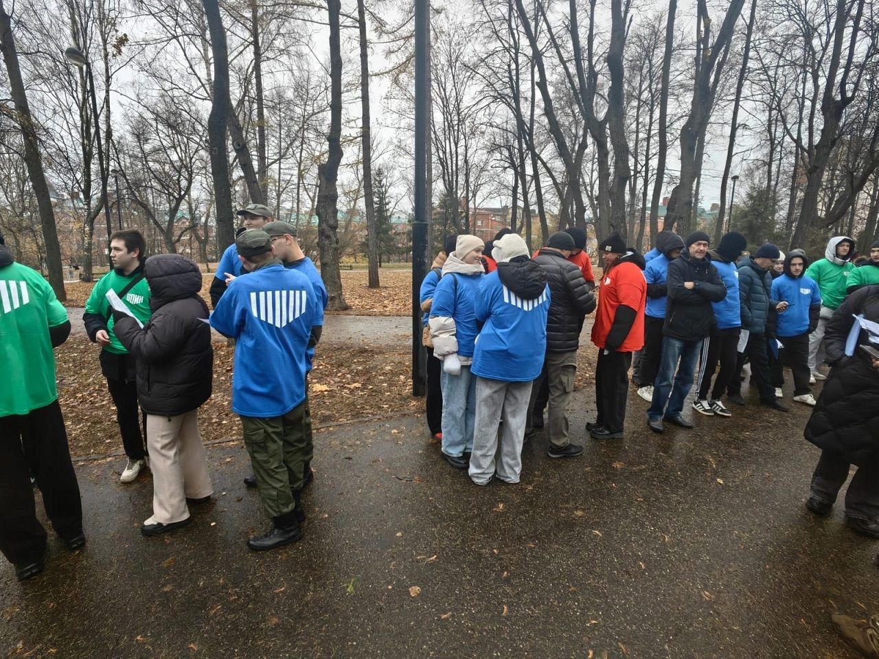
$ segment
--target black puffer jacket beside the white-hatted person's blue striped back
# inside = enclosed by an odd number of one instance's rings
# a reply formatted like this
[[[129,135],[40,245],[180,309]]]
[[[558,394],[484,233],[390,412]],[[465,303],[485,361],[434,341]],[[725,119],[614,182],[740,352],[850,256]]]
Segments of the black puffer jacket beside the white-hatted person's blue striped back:
[[[542,249],[534,263],[547,273],[552,299],[547,318],[547,352],[570,352],[580,347],[583,316],[595,310],[595,296],[583,272],[562,252]]]

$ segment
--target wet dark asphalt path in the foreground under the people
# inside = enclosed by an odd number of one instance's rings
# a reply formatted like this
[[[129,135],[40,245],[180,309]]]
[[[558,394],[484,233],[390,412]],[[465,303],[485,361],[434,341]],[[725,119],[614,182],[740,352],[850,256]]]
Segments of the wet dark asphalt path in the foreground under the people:
[[[512,486],[447,467],[419,419],[321,432],[306,537],[267,554],[244,546],[265,518],[240,445],[209,449],[214,503],[160,538],[149,478],[77,464],[88,545],[53,538],[28,583],[0,559],[0,656],[858,656],[830,614],[879,611],[879,547],[804,509],[808,410],[657,436],[646,407],[578,459],[526,445]]]

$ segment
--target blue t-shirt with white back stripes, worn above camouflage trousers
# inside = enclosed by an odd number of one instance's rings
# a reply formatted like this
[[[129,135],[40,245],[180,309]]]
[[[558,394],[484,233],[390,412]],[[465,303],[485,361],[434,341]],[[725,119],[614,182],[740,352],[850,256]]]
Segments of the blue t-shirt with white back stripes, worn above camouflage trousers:
[[[309,278],[280,261],[229,283],[211,327],[236,339],[232,411],[271,418],[305,400],[306,350],[318,303]]]

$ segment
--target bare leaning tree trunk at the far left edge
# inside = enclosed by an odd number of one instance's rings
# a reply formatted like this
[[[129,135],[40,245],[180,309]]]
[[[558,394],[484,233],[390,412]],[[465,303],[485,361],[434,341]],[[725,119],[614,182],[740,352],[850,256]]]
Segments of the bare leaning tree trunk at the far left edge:
[[[25,83],[18,66],[18,50],[16,50],[15,39],[12,36],[12,21],[10,15],[6,13],[3,0],[0,0],[0,50],[3,51],[6,73],[9,76],[11,87],[12,103],[15,105],[15,112],[18,115],[16,120],[24,141],[27,176],[31,179],[33,194],[37,198],[37,206],[40,209],[40,228],[43,232],[43,243],[46,246],[49,284],[58,300],[65,301],[67,293],[64,291],[61,246],[58,243],[58,230],[54,223],[52,199],[49,197],[49,186],[46,182],[46,173],[43,170],[42,157],[40,156],[40,141],[37,138],[36,129],[33,127],[31,108],[27,104],[27,95],[25,94]]]

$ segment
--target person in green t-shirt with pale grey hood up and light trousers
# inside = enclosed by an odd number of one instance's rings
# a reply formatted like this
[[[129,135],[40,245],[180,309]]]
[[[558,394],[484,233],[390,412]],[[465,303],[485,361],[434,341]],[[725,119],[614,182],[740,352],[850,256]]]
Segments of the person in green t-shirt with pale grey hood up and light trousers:
[[[809,368],[810,383],[815,380],[826,380],[827,376],[818,371],[818,365],[824,363],[824,334],[827,322],[833,311],[846,299],[846,287],[849,275],[854,270],[852,256],[854,240],[847,235],[834,235],[827,243],[825,257],[809,266],[806,277],[814,279],[821,290],[821,315],[818,325],[809,335]]]

